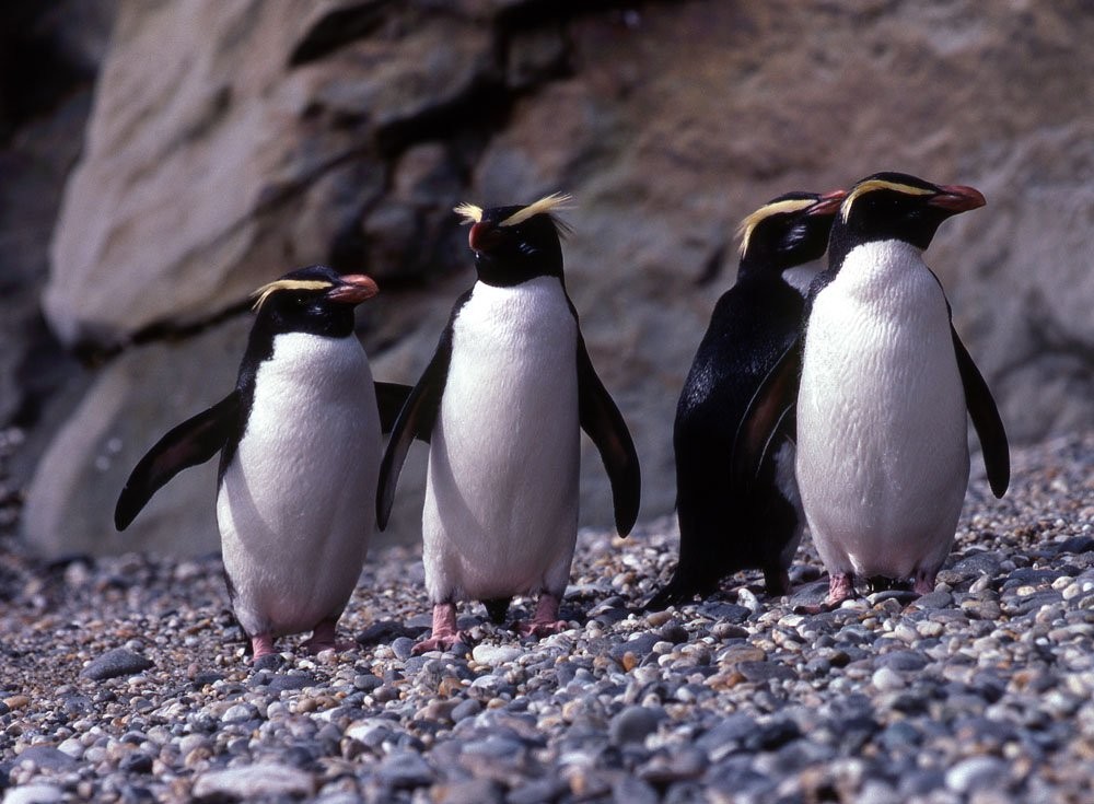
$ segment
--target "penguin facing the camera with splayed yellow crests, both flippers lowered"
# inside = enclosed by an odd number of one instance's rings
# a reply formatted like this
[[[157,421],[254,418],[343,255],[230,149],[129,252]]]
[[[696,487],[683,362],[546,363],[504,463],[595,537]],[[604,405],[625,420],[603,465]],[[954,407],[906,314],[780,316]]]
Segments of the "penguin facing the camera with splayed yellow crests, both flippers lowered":
[[[514,595],[538,595],[519,631],[567,627],[558,608],[578,535],[579,430],[604,461],[619,534],[638,517],[638,455],[566,289],[568,229],[555,213],[568,200],[455,209],[472,224],[477,280],[399,412],[377,491],[383,529],[411,441],[429,442],[422,560],[433,628],[419,654],[469,641],[456,629],[465,599],[500,621]]]

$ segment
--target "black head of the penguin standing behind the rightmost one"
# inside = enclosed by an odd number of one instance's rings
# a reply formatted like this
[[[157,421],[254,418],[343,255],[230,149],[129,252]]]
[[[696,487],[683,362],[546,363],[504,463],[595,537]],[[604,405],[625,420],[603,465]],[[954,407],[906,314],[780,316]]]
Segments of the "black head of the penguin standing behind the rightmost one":
[[[772,198],[737,228],[742,278],[759,271],[781,273],[818,259],[828,246],[828,231],[847,194],[833,190],[787,193]]]

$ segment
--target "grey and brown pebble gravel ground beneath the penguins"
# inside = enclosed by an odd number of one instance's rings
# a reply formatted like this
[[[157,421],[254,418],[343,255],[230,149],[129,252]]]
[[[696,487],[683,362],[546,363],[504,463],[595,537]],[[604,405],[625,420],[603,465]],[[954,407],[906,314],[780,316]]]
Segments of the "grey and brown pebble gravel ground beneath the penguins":
[[[806,547],[790,598],[752,573],[636,614],[674,561],[664,520],[582,533],[571,630],[521,641],[465,606],[477,645],[412,657],[420,559],[388,549],[342,619],[358,650],[283,640],[258,672],[217,558],[35,563],[0,478],[3,802],[1092,802],[1094,433],[1013,469],[1002,501],[974,479],[919,599],[796,614],[826,585]]]

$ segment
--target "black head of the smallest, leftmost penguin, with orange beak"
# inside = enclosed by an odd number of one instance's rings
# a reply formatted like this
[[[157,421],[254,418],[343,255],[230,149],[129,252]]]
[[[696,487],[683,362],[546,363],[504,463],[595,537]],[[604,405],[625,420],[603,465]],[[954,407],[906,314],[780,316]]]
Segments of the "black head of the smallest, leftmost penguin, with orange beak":
[[[380,292],[363,273],[339,276],[313,265],[264,284],[252,298],[256,329],[271,334],[312,333],[341,338],[353,331],[353,308]]]

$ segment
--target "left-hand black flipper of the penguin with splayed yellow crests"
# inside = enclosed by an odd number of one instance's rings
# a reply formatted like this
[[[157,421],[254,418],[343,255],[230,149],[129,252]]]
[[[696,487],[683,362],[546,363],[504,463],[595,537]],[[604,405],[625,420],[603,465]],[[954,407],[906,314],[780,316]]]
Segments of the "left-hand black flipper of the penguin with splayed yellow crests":
[[[456,303],[456,310],[459,302]],[[455,311],[453,311],[453,316]],[[392,427],[392,438],[387,442],[384,459],[380,463],[380,483],[376,487],[376,525],[383,531],[392,515],[395,503],[395,487],[399,482],[399,473],[407,459],[410,444],[415,439],[429,441],[437,421],[437,411],[441,406],[441,394],[449,377],[449,364],[452,362],[452,322],[444,328],[437,345],[433,358],[426,366],[418,383],[407,397],[406,404],[399,410],[398,418]]]

